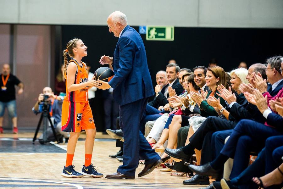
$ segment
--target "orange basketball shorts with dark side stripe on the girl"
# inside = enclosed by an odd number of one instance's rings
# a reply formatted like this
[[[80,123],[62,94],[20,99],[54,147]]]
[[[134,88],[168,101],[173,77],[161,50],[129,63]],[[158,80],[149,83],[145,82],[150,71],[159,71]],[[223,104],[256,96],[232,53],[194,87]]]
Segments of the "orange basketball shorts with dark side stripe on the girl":
[[[80,132],[94,129],[92,109],[89,103],[63,101],[62,104],[62,131]]]

